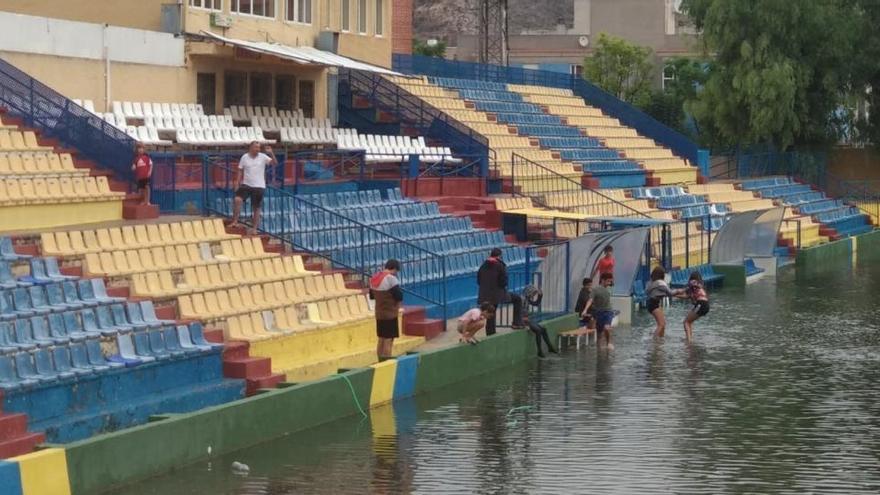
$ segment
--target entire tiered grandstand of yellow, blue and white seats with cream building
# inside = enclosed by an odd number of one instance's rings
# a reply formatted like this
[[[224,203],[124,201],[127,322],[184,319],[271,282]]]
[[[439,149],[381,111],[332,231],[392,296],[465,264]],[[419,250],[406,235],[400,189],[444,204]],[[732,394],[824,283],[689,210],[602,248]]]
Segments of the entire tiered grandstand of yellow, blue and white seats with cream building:
[[[646,263],[688,269],[738,213],[785,209],[781,259],[876,222],[798,177],[711,180],[586,81],[392,58],[389,0],[7,3],[0,457],[374,365],[365,281],[389,258],[401,355],[474,307],[494,248],[519,291],[588,232],[649,226]],[[229,227],[252,142],[280,160],[256,235]]]

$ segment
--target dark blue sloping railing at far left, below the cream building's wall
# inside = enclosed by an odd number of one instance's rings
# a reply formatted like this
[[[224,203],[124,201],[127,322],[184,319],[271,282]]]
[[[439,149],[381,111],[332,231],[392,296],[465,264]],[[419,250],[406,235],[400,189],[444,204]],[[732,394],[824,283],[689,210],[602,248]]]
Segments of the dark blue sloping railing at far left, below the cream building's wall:
[[[134,141],[130,137],[2,59],[0,106],[26,125],[76,148],[118,178],[131,180]]]

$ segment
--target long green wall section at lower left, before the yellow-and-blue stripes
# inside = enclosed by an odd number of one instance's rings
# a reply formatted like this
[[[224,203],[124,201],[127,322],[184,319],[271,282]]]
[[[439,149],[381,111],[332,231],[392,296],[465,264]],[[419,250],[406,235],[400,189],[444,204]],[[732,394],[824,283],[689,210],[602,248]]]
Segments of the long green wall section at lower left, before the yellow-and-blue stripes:
[[[210,457],[358,414],[341,375],[68,444],[71,492],[98,493]],[[345,373],[363,408],[372,369]]]

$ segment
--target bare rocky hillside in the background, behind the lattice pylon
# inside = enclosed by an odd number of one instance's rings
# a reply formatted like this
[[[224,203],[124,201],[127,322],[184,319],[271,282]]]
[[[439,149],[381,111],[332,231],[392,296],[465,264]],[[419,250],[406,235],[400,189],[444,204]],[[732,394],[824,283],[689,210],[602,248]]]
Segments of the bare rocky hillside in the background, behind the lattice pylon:
[[[479,4],[480,0],[415,0],[415,36],[454,45],[459,34],[477,32]],[[508,8],[511,34],[574,22],[572,0],[508,0]]]

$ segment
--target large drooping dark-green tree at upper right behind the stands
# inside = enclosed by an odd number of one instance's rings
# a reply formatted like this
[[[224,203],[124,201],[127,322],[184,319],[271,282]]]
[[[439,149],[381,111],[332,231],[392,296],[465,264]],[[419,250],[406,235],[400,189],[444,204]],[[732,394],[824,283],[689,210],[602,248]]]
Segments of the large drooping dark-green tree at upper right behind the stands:
[[[858,1],[871,0],[684,0],[715,59],[688,104],[711,144],[836,140],[855,84]]]

